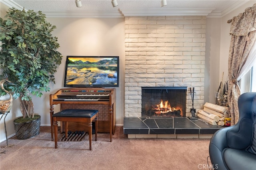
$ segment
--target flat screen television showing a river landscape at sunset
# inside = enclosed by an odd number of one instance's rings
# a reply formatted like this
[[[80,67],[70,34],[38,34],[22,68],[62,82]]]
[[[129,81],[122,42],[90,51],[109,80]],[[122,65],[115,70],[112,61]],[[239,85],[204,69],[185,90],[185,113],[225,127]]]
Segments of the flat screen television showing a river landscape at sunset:
[[[64,87],[118,87],[119,56],[67,56]]]

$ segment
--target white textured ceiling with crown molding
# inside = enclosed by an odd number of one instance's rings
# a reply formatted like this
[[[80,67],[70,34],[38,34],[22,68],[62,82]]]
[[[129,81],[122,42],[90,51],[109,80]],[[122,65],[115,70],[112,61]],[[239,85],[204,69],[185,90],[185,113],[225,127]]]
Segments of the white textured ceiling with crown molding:
[[[114,7],[111,0],[81,0],[77,8],[75,0],[1,0],[8,6],[42,11],[48,17],[86,16],[178,16],[204,15],[221,17],[239,8],[248,0],[167,0],[161,8],[161,0],[117,0]]]

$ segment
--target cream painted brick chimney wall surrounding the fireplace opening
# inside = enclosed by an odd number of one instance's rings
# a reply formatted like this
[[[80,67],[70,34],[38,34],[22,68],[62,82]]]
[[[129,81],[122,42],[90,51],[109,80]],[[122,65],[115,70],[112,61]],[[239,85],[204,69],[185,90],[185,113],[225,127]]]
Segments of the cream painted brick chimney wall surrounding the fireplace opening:
[[[141,116],[141,87],[188,87],[186,116],[204,105],[206,16],[125,18],[125,117]]]

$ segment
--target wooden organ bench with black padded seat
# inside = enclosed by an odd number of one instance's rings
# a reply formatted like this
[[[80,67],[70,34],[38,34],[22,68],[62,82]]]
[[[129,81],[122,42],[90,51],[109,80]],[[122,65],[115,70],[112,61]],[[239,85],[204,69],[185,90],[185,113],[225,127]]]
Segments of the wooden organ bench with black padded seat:
[[[95,141],[97,141],[98,131],[98,110],[87,110],[87,109],[65,109],[52,115],[53,126],[54,126],[54,142],[55,148],[58,147],[58,121],[65,122],[65,133],[66,138],[68,137],[68,122],[84,122],[88,123],[88,134],[90,150],[92,150],[92,121],[95,119]]]

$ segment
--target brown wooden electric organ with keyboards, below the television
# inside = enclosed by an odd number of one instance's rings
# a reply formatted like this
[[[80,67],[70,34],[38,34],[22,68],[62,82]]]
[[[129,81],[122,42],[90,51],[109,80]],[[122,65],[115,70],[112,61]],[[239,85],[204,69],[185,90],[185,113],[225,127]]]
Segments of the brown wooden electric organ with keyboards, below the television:
[[[116,130],[116,89],[105,88],[66,88],[50,95],[51,132],[53,140],[54,105],[60,104],[64,109],[95,109],[98,110],[98,132],[109,132],[110,141]],[[63,126],[62,126],[63,127]],[[69,122],[68,130],[87,130],[88,125]],[[64,128],[61,131],[64,131]]]

